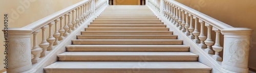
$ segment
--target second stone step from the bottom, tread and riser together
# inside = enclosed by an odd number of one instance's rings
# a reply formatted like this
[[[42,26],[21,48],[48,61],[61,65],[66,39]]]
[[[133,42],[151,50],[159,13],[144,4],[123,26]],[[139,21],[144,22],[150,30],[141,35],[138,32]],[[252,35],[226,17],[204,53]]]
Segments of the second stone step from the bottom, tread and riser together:
[[[65,52],[59,61],[197,61],[190,52]]]

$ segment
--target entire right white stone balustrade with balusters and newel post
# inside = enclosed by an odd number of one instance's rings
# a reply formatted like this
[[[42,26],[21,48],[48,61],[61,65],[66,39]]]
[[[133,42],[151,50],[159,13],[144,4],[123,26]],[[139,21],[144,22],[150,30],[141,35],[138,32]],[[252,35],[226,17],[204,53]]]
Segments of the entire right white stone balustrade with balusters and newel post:
[[[148,0],[147,3],[165,23],[173,24],[171,29],[176,29],[181,38],[189,40],[186,41],[190,51],[200,52],[195,52],[200,55],[199,61],[213,67],[212,72],[248,72],[251,29],[233,28],[173,0]],[[224,37],[220,37],[221,34]],[[223,58],[219,55],[222,50]]]

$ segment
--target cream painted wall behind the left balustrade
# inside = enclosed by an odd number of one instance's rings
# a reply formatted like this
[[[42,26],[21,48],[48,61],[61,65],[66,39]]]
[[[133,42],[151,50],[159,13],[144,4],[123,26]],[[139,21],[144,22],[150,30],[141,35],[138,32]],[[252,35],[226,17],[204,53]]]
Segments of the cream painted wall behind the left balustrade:
[[[0,29],[4,29],[4,14],[9,15],[8,28],[22,28],[30,23],[44,18],[63,8],[76,4],[82,0],[19,0],[0,3]],[[0,32],[0,70],[4,69],[4,35]],[[38,33],[40,34],[40,33]],[[38,37],[40,38],[40,37]],[[38,40],[39,42],[40,40]],[[39,43],[38,43],[39,44]]]

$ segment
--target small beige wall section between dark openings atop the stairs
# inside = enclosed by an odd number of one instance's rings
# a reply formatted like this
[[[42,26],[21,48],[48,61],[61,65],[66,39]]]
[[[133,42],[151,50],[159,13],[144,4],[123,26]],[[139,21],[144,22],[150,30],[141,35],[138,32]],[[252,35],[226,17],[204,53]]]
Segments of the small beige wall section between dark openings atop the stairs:
[[[114,5],[140,5],[140,0],[114,0]]]

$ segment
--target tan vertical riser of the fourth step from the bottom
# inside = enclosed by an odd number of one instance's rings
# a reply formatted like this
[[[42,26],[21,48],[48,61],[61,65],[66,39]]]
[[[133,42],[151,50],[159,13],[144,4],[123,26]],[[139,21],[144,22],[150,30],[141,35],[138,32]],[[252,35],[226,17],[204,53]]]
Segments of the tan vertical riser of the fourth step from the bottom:
[[[180,45],[182,44],[182,41],[89,41],[89,40],[73,40],[73,44],[131,44],[131,45],[136,45],[136,44],[177,44]]]

